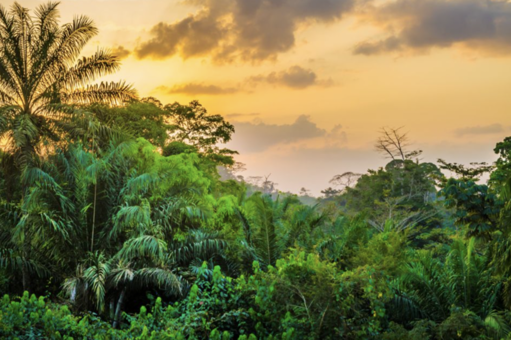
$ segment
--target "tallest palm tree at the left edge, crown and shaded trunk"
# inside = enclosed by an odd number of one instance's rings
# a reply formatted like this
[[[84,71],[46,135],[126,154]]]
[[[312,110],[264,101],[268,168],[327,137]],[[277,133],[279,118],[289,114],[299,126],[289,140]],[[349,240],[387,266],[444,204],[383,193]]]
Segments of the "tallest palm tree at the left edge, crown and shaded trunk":
[[[41,157],[73,140],[94,141],[97,124],[79,104],[113,104],[136,97],[135,90],[122,82],[90,84],[118,70],[119,59],[105,50],[78,59],[98,30],[85,16],[59,26],[57,7],[55,2],[43,4],[31,15],[18,3],[10,10],[0,6],[0,139],[2,167],[9,174],[4,206],[7,222],[15,226],[9,242],[20,248],[12,263],[21,265],[27,289],[30,271],[42,270],[31,243],[47,236],[32,226],[33,220],[48,219],[55,223],[54,231],[64,230],[51,211],[34,217],[34,199],[41,201],[52,189],[51,198],[61,210],[67,209],[60,187],[42,169]]]

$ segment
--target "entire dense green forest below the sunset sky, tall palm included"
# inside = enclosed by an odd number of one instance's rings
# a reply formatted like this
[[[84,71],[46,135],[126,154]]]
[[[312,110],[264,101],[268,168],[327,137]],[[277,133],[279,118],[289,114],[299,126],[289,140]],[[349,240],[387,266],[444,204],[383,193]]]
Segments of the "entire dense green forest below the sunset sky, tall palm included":
[[[94,84],[119,59],[57,10],[0,6],[0,338],[511,338],[511,137],[433,164],[383,128],[385,167],[282,193],[198,101]]]

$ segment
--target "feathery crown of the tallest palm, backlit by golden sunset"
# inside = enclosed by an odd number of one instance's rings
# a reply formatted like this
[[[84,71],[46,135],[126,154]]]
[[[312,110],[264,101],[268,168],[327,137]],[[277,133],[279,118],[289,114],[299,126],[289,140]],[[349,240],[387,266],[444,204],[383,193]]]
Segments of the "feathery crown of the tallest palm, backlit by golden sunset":
[[[119,69],[119,59],[108,51],[79,59],[85,44],[98,30],[86,16],[59,26],[58,2],[34,12],[14,3],[0,5],[0,139],[29,165],[44,140],[58,141],[77,133],[73,104],[119,104],[136,96],[124,82],[91,85]]]

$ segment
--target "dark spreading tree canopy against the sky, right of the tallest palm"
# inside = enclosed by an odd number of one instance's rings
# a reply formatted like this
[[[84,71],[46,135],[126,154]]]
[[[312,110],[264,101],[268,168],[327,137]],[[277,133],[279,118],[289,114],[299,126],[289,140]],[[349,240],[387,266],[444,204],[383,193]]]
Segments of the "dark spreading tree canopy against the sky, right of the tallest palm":
[[[220,115],[209,115],[197,101],[164,106],[148,97],[130,100],[123,107],[93,104],[86,108],[110,129],[131,138],[142,137],[166,156],[192,152],[210,161],[212,169],[235,166],[237,152],[219,146],[230,141],[234,126]]]

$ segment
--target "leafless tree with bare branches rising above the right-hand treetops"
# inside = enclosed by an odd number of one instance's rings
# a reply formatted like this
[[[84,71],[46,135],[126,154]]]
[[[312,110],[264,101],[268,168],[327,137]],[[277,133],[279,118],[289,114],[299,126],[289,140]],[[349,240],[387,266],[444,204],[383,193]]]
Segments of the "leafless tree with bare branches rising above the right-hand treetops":
[[[422,154],[422,150],[408,151],[410,139],[407,132],[401,132],[403,127],[397,129],[383,127],[381,135],[376,141],[375,148],[382,153],[385,158],[392,160],[410,160]]]

